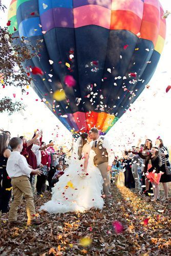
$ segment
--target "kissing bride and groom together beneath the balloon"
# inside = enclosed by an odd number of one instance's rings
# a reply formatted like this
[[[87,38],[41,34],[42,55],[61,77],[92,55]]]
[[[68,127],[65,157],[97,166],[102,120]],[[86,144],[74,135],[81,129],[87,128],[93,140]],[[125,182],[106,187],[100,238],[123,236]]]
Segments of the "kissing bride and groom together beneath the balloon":
[[[102,208],[111,203],[110,170],[114,151],[97,128],[74,142],[69,167],[52,190],[51,201],[40,207],[52,214]],[[102,195],[103,191],[103,195]]]

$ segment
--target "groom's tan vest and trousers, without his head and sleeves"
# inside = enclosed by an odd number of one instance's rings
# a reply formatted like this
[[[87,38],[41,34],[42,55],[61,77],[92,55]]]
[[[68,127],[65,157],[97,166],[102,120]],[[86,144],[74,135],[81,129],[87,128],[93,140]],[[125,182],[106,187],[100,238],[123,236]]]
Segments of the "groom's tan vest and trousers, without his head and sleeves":
[[[94,157],[94,164],[100,169],[101,175],[103,177],[103,193],[105,195],[105,200],[109,201],[111,198],[111,187],[110,187],[110,173],[107,171],[108,167],[108,152],[106,148],[103,147],[104,137],[100,137],[97,144],[93,141],[92,150],[96,153]]]

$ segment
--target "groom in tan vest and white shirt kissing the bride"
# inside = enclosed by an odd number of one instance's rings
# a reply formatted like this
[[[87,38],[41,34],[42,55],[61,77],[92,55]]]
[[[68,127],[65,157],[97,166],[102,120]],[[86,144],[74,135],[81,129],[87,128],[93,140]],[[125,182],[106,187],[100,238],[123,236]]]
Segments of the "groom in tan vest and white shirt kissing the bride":
[[[111,205],[111,187],[110,187],[110,170],[115,158],[114,152],[110,146],[109,141],[99,136],[97,128],[93,127],[89,132],[90,138],[93,140],[92,150],[96,153],[94,157],[94,164],[100,169],[103,177],[103,193],[105,195],[105,203]]]

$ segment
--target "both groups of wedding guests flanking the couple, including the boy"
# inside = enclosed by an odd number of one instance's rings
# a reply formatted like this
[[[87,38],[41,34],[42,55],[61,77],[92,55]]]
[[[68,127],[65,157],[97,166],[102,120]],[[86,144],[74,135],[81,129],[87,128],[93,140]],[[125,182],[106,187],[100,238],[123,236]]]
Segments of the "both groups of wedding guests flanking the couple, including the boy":
[[[0,133],[0,211],[9,211],[9,220],[17,223],[17,208],[26,199],[28,223],[39,223],[35,218],[33,195],[52,191],[68,167],[66,156],[71,152],[55,150],[53,141],[46,145],[42,131],[36,131],[30,140],[20,136],[11,139],[9,131]],[[13,172],[11,171],[13,170]],[[28,178],[30,177],[30,178]],[[111,169],[111,183],[139,191],[152,201],[159,200],[159,184],[163,184],[168,199],[168,182],[171,182],[169,153],[161,138],[155,146],[151,139],[138,142],[123,157],[115,157]],[[36,188],[36,191],[35,191]],[[13,189],[13,201],[9,208]]]

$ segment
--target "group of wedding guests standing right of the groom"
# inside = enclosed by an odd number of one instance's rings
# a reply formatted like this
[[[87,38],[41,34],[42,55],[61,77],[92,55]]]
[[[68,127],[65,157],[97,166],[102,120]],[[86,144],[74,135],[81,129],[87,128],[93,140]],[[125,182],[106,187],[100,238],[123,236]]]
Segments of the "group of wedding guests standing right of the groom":
[[[144,144],[132,146],[124,151],[123,157],[115,158],[111,170],[111,183],[124,185],[139,191],[152,201],[159,201],[159,184],[164,188],[165,199],[168,199],[168,182],[171,182],[169,153],[161,138],[157,138],[155,146],[151,139]],[[124,175],[123,175],[124,174]]]

